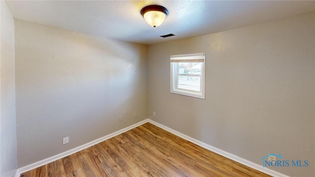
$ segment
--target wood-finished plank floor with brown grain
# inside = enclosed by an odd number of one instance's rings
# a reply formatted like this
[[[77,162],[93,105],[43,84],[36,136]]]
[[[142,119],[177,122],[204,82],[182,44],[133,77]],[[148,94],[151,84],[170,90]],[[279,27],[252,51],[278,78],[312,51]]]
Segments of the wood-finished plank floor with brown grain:
[[[270,177],[145,123],[21,177]]]

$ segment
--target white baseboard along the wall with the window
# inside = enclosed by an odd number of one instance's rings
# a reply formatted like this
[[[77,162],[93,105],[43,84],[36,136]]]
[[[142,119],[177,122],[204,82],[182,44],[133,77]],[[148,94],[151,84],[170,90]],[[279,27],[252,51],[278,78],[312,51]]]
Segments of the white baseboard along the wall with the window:
[[[166,131],[168,131],[168,132],[170,132],[170,133],[173,133],[174,135],[179,136],[179,137],[181,137],[181,138],[183,138],[183,139],[185,139],[185,140],[187,140],[187,141],[189,141],[189,142],[191,142],[191,143],[193,143],[195,145],[198,145],[198,146],[200,146],[202,148],[205,148],[205,149],[208,149],[210,151],[213,151],[213,152],[215,152],[217,154],[222,155],[223,157],[226,157],[226,158],[229,158],[231,160],[234,160],[234,161],[236,161],[236,162],[238,162],[240,164],[246,165],[248,167],[251,167],[251,168],[253,168],[255,170],[258,170],[260,172],[263,172],[265,174],[271,175],[273,177],[288,177],[288,176],[286,176],[284,174],[281,174],[281,173],[276,172],[274,170],[270,170],[270,169],[268,169],[266,167],[263,168],[262,165],[258,165],[256,163],[253,163],[253,162],[251,162],[249,160],[246,160],[246,159],[243,159],[241,157],[238,157],[238,156],[236,156],[234,154],[228,153],[228,152],[226,152],[224,150],[221,150],[219,148],[215,148],[213,146],[205,144],[205,143],[203,143],[203,142],[201,142],[199,140],[196,140],[196,139],[191,138],[191,137],[189,137],[187,135],[184,135],[183,133],[180,133],[180,132],[178,132],[176,130],[173,130],[173,129],[171,129],[171,128],[167,127],[167,126],[164,126],[164,125],[162,125],[162,124],[160,124],[160,123],[158,123],[156,121],[153,121],[151,119],[149,119],[149,122],[154,124],[154,125],[156,125],[156,126],[158,126],[158,127],[160,127],[160,128],[162,128],[162,129],[164,129],[164,130],[166,130]]]

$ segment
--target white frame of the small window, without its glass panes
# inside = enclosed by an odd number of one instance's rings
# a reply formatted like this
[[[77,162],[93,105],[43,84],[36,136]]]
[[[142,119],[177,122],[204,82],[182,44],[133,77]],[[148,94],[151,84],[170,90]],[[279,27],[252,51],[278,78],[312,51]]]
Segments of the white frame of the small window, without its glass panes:
[[[195,74],[179,74],[179,69],[177,64],[179,62],[200,62],[201,71],[200,75]],[[206,54],[205,53],[195,53],[195,54],[183,54],[183,55],[171,55],[170,56],[170,91],[171,93],[196,97],[205,99],[205,65],[206,65]],[[200,77],[200,91],[193,91],[189,89],[178,88],[178,76],[198,76]]]

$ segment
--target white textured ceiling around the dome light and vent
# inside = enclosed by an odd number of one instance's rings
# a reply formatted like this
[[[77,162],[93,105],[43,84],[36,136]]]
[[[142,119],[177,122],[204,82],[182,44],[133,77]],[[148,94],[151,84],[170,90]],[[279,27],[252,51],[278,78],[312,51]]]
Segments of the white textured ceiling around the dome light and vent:
[[[315,11],[315,1],[104,0],[6,1],[16,19],[142,44],[235,29]],[[140,10],[158,4],[169,10],[153,28]],[[176,36],[161,38],[173,33]]]

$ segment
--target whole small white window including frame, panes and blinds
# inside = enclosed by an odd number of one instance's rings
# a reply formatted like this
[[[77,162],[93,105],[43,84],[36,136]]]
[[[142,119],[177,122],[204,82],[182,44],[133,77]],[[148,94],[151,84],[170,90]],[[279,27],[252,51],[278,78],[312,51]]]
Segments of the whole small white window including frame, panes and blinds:
[[[170,56],[171,93],[205,99],[205,53]]]

